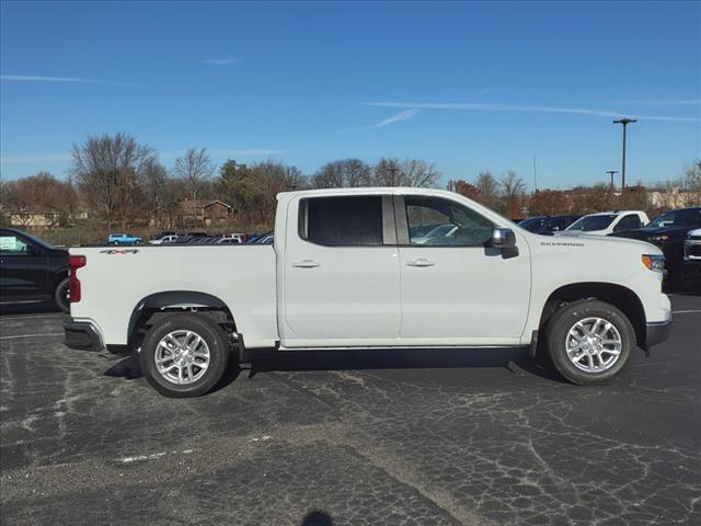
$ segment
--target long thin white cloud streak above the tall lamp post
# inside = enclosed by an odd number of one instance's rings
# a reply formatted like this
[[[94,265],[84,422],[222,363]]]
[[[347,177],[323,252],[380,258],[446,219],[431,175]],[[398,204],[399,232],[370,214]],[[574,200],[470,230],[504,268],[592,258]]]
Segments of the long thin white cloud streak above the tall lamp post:
[[[501,103],[440,103],[440,102],[365,102],[368,106],[381,107],[407,107],[412,110],[460,110],[475,112],[537,112],[537,113],[570,113],[579,115],[596,115],[600,117],[632,117],[645,121],[669,121],[669,122],[699,122],[694,117],[673,117],[667,115],[631,115],[629,113],[617,113],[604,110],[593,110],[588,107],[562,107],[562,106],[538,106],[526,104],[501,104]]]

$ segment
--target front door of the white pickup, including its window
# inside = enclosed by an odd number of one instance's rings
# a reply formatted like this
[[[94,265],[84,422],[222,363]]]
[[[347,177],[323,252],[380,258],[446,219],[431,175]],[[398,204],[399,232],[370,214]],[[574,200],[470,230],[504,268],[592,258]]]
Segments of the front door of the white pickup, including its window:
[[[530,297],[530,253],[489,247],[494,222],[457,201],[395,197],[402,327],[407,344],[519,344]],[[421,235],[426,226],[455,228]]]

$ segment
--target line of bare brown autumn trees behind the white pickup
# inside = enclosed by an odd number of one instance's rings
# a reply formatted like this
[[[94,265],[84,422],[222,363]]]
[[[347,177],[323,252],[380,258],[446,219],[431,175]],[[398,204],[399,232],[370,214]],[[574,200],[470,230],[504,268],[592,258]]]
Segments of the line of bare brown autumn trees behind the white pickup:
[[[230,159],[216,167],[207,149],[189,148],[166,169],[158,152],[134,137],[90,136],[74,145],[68,180],[47,172],[14,181],[0,181],[0,211],[56,213],[57,224],[68,224],[80,210],[103,221],[106,230],[151,225],[172,228],[183,202],[219,199],[232,207],[232,226],[249,231],[271,227],[275,196],[303,188],[359,186],[437,187],[440,171],[425,160],[382,158],[370,164],[361,159],[325,163],[313,174],[276,160],[251,164]],[[701,161],[687,168],[678,181],[659,183],[680,186],[687,206],[701,203]],[[540,214],[590,213],[619,207],[620,193],[605,183],[567,191],[528,192],[525,180],[514,171],[494,175],[481,171],[473,180],[451,180],[447,188],[507,217]],[[650,210],[642,185],[627,188],[625,206]],[[652,210],[656,211],[656,210]]]

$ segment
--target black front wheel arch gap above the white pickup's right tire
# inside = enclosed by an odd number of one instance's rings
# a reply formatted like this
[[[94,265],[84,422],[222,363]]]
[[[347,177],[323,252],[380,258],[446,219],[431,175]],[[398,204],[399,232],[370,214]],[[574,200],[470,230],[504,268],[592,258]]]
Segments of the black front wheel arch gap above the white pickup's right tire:
[[[539,333],[542,333],[548,321],[560,306],[579,299],[598,299],[620,309],[633,325],[637,345],[643,350],[647,348],[647,327],[643,302],[635,291],[614,283],[572,283],[556,288],[543,305],[538,324]]]

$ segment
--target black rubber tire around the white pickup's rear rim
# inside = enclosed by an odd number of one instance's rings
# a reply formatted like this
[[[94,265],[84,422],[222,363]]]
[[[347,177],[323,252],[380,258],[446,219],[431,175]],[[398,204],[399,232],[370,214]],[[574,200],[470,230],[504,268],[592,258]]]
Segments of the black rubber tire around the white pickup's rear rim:
[[[192,331],[204,340],[209,350],[208,367],[200,378],[191,384],[179,385],[169,380],[156,365],[159,342],[175,331]],[[139,364],[143,376],[158,392],[170,398],[189,398],[205,395],[215,387],[227,369],[229,354],[227,336],[217,323],[203,315],[177,313],[161,320],[149,330],[141,343]]]

